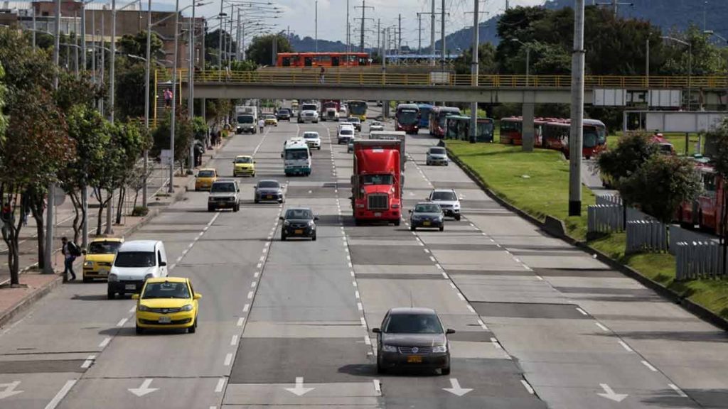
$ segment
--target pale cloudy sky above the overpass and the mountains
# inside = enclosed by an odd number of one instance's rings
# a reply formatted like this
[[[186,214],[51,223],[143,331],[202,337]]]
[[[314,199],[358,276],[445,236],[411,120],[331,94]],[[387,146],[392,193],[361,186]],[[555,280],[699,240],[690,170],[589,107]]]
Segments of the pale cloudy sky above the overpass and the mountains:
[[[208,4],[197,9],[197,15],[215,16],[220,12],[221,0],[209,0]],[[266,1],[266,0],[254,0]],[[315,2],[316,0],[269,0],[282,13],[279,18],[267,19],[275,24],[276,31],[288,31],[298,36],[314,38],[316,32]],[[351,38],[354,44],[360,41],[360,27],[362,15],[362,0],[349,1],[349,20],[351,21]],[[487,20],[499,15],[505,9],[507,0],[480,0],[480,20]],[[435,10],[440,12],[442,0],[435,0]],[[509,0],[510,7],[534,6],[543,4],[545,0]],[[152,9],[174,9],[174,2],[170,0],[153,1]],[[190,4],[191,0],[181,0],[180,7]],[[450,13],[446,17],[446,34],[472,25],[473,0],[445,0],[446,9]],[[402,44],[417,47],[418,43],[418,12],[430,12],[431,0],[365,0],[365,33],[367,44],[376,44],[376,25],[381,27],[397,25],[398,15],[402,15]],[[356,7],[356,8],[355,8]],[[369,8],[373,7],[373,9]],[[189,11],[189,10],[188,10]],[[466,13],[467,12],[467,13]],[[187,14],[187,13],[185,13]],[[355,17],[357,20],[355,20]],[[372,18],[373,20],[368,20]],[[318,0],[318,38],[345,41],[347,33],[347,0]],[[436,34],[440,38],[440,17],[436,20]],[[430,15],[422,15],[422,44],[423,47],[430,41]]]

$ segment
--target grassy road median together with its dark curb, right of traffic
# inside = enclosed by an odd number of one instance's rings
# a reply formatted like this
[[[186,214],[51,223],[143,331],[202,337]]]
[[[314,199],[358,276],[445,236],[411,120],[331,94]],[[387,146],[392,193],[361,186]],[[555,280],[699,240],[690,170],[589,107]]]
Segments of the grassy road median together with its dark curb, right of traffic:
[[[676,263],[668,253],[625,255],[624,233],[587,240],[586,207],[595,203],[584,188],[582,216],[568,215],[569,162],[560,152],[521,146],[448,141],[448,152],[475,183],[496,202],[598,259],[637,279],[692,314],[728,330],[728,280],[675,280]],[[563,225],[563,228],[560,226]],[[563,229],[563,233],[561,230]]]

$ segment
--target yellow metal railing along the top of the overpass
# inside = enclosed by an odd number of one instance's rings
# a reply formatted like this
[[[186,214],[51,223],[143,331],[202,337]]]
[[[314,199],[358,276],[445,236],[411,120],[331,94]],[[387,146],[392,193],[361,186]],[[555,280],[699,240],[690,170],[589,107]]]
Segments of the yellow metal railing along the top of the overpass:
[[[168,78],[162,72],[159,78]],[[186,70],[178,71],[181,82],[187,82]],[[471,87],[470,74],[449,74],[445,77],[430,74],[387,74],[366,72],[326,73],[321,78],[314,71],[205,71],[194,74],[196,84],[233,83],[233,84],[324,84],[350,86],[428,86],[428,87]],[[491,75],[478,76],[478,86],[488,88],[569,88],[571,76],[566,75]],[[625,88],[625,89],[723,89],[728,88],[726,76],[586,76],[587,88]]]

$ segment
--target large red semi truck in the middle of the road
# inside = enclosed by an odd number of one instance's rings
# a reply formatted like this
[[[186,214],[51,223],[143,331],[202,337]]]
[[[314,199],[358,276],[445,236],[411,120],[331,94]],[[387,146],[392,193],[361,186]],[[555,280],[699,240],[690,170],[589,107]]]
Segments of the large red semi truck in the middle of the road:
[[[354,140],[352,210],[357,226],[365,221],[400,225],[404,154],[404,143],[397,139]]]

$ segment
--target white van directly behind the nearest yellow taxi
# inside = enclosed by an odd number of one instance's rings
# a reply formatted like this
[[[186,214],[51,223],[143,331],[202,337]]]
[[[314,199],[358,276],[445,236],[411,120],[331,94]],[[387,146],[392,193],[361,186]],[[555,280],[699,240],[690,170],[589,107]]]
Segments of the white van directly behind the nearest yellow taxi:
[[[124,242],[108,273],[108,299],[138,293],[150,277],[167,277],[167,253],[159,240]]]

